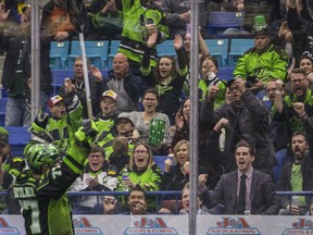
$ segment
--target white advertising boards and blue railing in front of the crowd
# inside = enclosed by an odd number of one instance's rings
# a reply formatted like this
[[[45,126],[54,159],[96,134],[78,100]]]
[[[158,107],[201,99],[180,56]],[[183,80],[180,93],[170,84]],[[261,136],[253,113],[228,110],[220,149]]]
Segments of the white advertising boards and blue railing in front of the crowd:
[[[70,197],[118,195],[125,196],[125,191],[68,191]],[[179,191],[153,191],[148,195],[179,196]],[[1,193],[0,196],[5,195]],[[277,191],[277,195],[313,195],[313,191]],[[187,235],[189,234],[188,215],[173,214],[73,214],[75,234],[97,235]],[[196,235],[230,235],[230,234],[259,234],[259,235],[288,235],[313,234],[313,217],[286,217],[286,215],[223,215],[205,214],[197,215]],[[0,214],[0,234],[25,234],[22,215]]]

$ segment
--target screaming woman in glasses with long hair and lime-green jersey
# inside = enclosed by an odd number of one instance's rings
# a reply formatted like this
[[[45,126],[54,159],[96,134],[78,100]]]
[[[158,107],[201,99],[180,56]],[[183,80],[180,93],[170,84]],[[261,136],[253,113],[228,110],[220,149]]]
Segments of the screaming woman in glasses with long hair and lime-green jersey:
[[[137,143],[129,166],[124,168],[120,173],[117,190],[128,191],[136,185],[146,191],[159,190],[161,176],[161,169],[154,163],[150,147],[146,143]]]

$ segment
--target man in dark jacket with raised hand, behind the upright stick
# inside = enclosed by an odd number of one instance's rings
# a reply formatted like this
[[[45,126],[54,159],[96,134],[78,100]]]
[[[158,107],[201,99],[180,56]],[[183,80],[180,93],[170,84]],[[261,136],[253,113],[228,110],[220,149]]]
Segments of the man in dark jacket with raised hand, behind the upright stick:
[[[90,99],[92,106],[92,115],[97,115],[100,112],[100,99],[102,91],[102,74],[98,67],[90,65],[87,61],[88,67],[88,81],[90,87]],[[79,98],[84,111],[83,118],[87,119],[87,101],[86,101],[86,88],[84,81],[83,58],[77,57],[74,62],[74,77],[66,77],[64,84],[60,89],[60,96],[64,97],[68,92],[74,92]]]

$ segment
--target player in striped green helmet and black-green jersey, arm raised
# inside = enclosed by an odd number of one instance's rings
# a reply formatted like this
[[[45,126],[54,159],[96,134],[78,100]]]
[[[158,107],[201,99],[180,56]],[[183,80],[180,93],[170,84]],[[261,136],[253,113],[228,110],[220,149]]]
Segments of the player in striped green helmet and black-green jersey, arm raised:
[[[92,121],[76,132],[61,164],[59,151],[51,144],[34,145],[26,151],[29,168],[16,177],[13,187],[26,234],[74,234],[66,190],[83,173],[88,143],[97,132]],[[34,218],[38,219],[36,223]]]

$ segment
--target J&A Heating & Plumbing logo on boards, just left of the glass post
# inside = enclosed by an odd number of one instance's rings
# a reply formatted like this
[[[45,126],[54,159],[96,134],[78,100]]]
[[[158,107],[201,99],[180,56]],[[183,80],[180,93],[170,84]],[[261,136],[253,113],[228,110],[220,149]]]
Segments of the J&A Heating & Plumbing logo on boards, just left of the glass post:
[[[124,235],[133,234],[167,234],[177,235],[177,231],[174,227],[168,227],[162,218],[140,218],[133,224],[134,226],[127,227]]]

